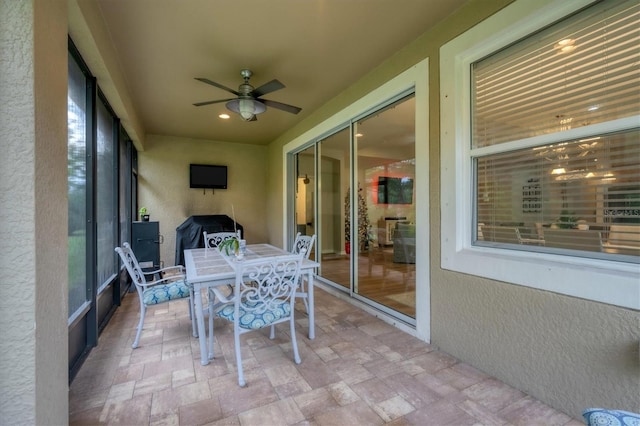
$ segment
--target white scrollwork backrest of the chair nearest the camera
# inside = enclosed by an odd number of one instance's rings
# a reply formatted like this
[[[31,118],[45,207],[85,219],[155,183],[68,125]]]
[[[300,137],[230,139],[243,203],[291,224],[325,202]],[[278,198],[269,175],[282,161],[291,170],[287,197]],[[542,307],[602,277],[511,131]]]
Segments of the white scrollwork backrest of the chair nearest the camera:
[[[256,318],[242,328],[262,328],[260,318],[267,312],[277,312],[280,318],[293,312],[296,289],[300,280],[303,255],[274,256],[236,263],[235,310],[240,307]],[[289,307],[284,308],[283,305]],[[238,318],[239,315],[235,315]],[[267,324],[268,325],[268,324]]]

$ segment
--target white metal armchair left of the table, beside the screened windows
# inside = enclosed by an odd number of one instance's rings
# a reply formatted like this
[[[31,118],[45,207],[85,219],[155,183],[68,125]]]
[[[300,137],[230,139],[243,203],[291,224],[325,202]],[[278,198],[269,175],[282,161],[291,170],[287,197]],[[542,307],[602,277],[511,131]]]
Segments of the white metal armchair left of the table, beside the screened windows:
[[[185,281],[182,265],[168,266],[155,271],[144,272],[142,268],[140,268],[138,259],[136,259],[128,243],[122,243],[122,247],[116,247],[115,250],[120,255],[122,263],[124,263],[131,280],[136,286],[138,298],[140,299],[140,322],[138,323],[136,338],[131,347],[134,349],[137,348],[140,342],[140,334],[142,334],[147,306],[159,305],[171,300],[189,299],[192,327],[195,333],[195,315],[193,315],[193,298],[191,297],[192,290]],[[169,272],[173,274],[167,275]],[[160,278],[154,281],[147,281],[147,276],[155,277],[156,275]]]

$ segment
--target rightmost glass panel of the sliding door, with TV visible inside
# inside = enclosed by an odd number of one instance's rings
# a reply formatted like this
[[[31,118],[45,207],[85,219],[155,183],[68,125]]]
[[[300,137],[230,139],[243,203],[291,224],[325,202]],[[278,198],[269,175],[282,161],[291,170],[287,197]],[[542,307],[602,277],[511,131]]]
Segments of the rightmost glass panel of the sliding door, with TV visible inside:
[[[359,184],[354,292],[415,318],[415,97],[358,121],[354,133]]]

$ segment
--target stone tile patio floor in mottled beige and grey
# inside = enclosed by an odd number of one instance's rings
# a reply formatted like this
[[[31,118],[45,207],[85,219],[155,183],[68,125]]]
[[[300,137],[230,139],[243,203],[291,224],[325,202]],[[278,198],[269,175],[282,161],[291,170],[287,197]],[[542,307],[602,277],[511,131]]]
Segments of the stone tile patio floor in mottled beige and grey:
[[[582,425],[316,287],[316,338],[296,306],[302,363],[288,324],[242,337],[216,320],[216,358],[203,366],[186,300],[150,308],[131,348],[129,293],[70,386],[71,425]]]

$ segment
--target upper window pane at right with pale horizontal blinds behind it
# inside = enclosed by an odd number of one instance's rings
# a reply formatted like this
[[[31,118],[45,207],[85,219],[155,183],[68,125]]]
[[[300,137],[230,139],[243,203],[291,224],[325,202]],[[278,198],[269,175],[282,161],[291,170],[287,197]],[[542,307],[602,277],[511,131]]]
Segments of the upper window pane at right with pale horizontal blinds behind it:
[[[473,64],[473,147],[637,115],[639,21],[602,2]]]

